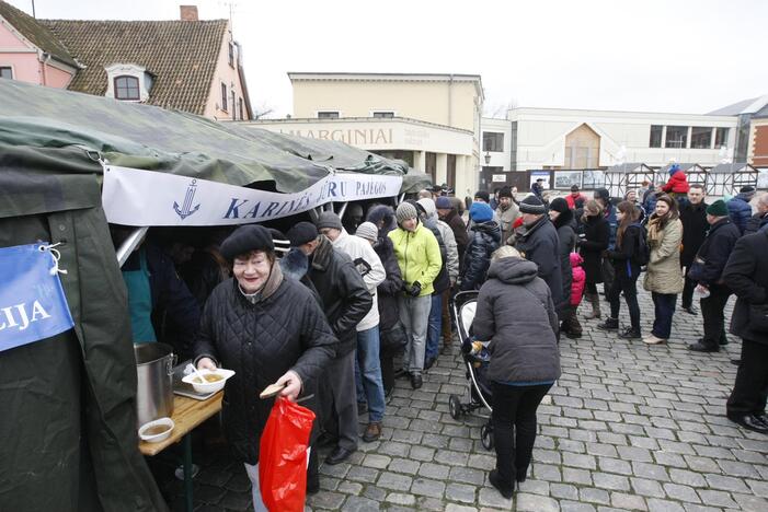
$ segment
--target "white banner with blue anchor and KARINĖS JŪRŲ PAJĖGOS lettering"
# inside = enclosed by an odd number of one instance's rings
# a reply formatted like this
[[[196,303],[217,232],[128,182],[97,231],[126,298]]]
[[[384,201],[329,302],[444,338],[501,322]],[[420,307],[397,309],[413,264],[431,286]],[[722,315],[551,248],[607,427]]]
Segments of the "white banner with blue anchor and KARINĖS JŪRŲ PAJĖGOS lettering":
[[[335,174],[296,194],[279,194],[129,167],[104,167],[106,220],[125,225],[225,225],[263,222],[326,202],[400,194],[401,176]]]

